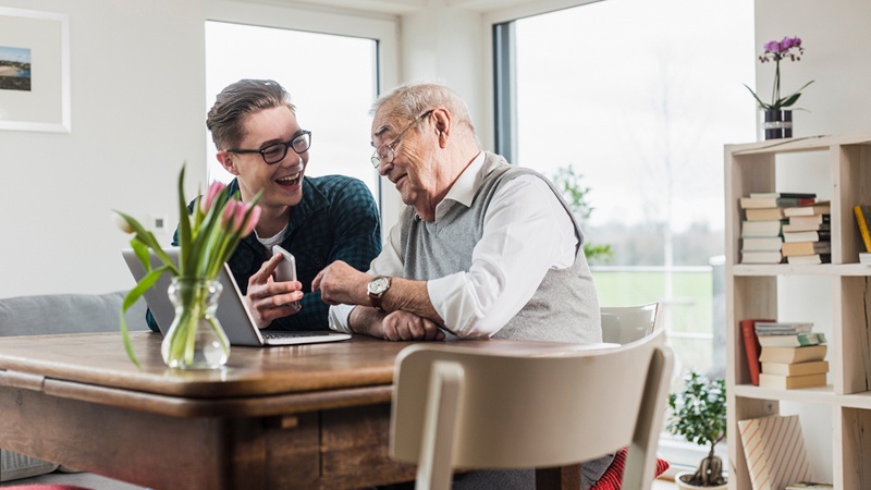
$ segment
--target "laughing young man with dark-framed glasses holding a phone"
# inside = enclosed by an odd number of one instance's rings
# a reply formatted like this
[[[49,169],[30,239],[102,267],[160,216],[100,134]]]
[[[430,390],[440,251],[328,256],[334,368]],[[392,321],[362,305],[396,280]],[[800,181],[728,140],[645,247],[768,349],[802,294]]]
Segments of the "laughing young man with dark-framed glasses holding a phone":
[[[206,125],[217,158],[250,201],[262,189],[255,233],[228,261],[260,328],[327,330],[329,306],[312,292],[315,275],[334,260],[367,270],[381,252],[378,208],[369,188],[343,175],[305,176],[311,133],[296,121],[290,95],[268,79],[242,79],[224,88]],[[280,245],[296,258],[297,281],[278,282]],[[152,321],[152,329],[156,329]]]

